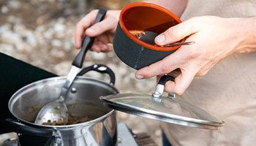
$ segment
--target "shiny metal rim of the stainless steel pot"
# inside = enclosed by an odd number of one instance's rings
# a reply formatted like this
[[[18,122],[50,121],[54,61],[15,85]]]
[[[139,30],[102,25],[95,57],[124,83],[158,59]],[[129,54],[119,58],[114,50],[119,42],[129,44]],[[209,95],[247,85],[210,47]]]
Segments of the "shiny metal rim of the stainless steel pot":
[[[39,126],[41,128],[73,128],[73,127],[77,127],[77,126],[86,126],[86,125],[91,125],[91,123],[97,123],[99,122],[100,120],[104,119],[104,118],[107,118],[108,116],[110,116],[115,110],[110,110],[110,112],[106,113],[105,115],[102,115],[101,117],[99,118],[96,118],[94,120],[90,120],[88,122],[85,122],[85,123],[78,123],[78,124],[72,124],[72,125],[67,125],[67,126],[45,126],[45,125],[40,125],[40,124],[36,124],[36,123],[31,123],[29,121],[26,121],[26,120],[23,120],[21,118],[18,118],[11,110],[11,104],[14,102],[13,100],[15,99],[15,96],[17,96],[20,92],[22,91],[25,91],[27,90],[28,88],[30,88],[31,86],[34,86],[34,85],[37,85],[39,83],[42,83],[42,82],[48,82],[48,81],[51,81],[51,80],[65,80],[67,77],[66,76],[61,76],[61,77],[49,77],[49,78],[46,78],[46,79],[42,79],[42,80],[38,80],[38,81],[35,81],[35,82],[31,82],[30,84],[28,85],[25,85],[23,86],[23,88],[20,88],[18,91],[16,91],[12,97],[10,98],[9,102],[8,102],[8,108],[9,108],[9,111],[12,113],[12,115],[17,118],[18,120],[22,121],[23,123],[29,123],[29,125],[32,125],[32,126]],[[82,76],[77,76],[76,79],[80,79],[80,80],[92,80],[92,81],[95,81],[95,82],[100,82],[100,83],[103,83],[105,85],[108,85],[110,86],[110,88],[113,88],[114,91],[116,91],[117,93],[118,90],[113,86],[113,85],[110,85],[108,84],[107,82],[103,82],[102,80],[97,80],[97,79],[94,79],[94,78],[91,78],[91,77],[82,77]],[[18,99],[16,99],[18,100]]]

